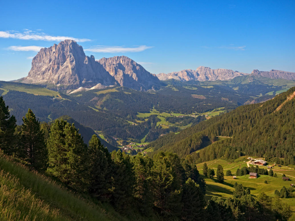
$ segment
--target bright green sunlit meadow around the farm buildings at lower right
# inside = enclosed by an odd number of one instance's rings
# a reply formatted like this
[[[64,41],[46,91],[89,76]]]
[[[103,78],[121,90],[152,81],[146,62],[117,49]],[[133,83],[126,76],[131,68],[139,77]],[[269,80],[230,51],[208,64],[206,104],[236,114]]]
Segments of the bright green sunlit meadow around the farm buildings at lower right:
[[[227,170],[231,170],[232,174],[236,173],[237,168],[242,168],[243,166],[247,166],[247,163],[244,161],[248,161],[246,157],[240,157],[235,161],[229,162],[223,159],[215,159],[211,161],[207,161],[208,168],[214,168],[216,173],[216,168],[218,164],[222,165],[224,168],[224,174],[226,174]],[[252,156],[253,157],[253,156]],[[253,157],[255,158],[255,157]],[[197,164],[198,170],[200,174],[203,174],[203,164]],[[272,162],[269,162],[272,164]],[[261,167],[261,168],[266,168]],[[217,196],[221,198],[230,197],[234,191],[234,184],[237,182],[242,184],[245,188],[249,188],[251,190],[251,194],[257,196],[260,192],[265,192],[268,196],[275,196],[274,191],[278,189],[282,189],[282,187],[286,187],[287,189],[290,187],[290,184],[295,183],[295,170],[294,167],[274,167],[273,172],[277,173],[278,177],[270,177],[268,175],[260,175],[257,179],[249,179],[249,175],[246,176],[237,176],[237,179],[233,179],[232,177],[226,177],[223,184],[220,184],[216,181],[216,176],[213,180],[204,177],[207,184],[207,192],[206,192],[206,199],[208,200],[212,196]],[[287,177],[289,176],[292,181],[283,181],[281,173],[284,173]],[[264,182],[267,181],[267,184]],[[291,206],[292,211],[295,213],[295,199],[294,198],[282,198],[282,200],[288,203]]]

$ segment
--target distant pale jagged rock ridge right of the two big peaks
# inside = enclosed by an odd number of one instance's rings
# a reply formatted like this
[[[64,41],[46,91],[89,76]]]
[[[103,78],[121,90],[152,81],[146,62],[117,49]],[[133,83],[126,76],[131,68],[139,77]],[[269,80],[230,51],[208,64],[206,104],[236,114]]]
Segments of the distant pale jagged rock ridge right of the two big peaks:
[[[247,75],[238,71],[229,69],[211,69],[209,67],[200,66],[196,70],[186,69],[178,72],[168,74],[160,73],[157,77],[160,80],[175,79],[178,81],[216,81],[216,80],[230,80],[237,76]]]

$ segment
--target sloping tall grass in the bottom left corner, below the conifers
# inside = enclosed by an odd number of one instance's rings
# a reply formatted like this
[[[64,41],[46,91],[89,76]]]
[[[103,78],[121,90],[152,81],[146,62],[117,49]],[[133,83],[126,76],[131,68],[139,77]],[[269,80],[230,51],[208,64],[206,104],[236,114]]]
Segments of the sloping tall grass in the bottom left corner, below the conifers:
[[[108,210],[109,213],[0,152],[0,220],[125,220],[111,208]]]

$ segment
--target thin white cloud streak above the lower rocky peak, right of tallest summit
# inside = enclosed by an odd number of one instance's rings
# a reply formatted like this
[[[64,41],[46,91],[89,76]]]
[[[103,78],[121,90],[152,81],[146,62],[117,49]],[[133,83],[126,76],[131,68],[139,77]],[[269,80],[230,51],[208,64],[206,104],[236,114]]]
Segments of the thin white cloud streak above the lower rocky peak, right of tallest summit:
[[[98,45],[96,47],[91,47],[88,49],[85,49],[84,51],[90,51],[90,52],[97,52],[97,53],[125,53],[125,52],[141,52],[145,51],[149,48],[152,48],[147,45],[141,45],[134,48],[126,48],[122,46],[104,46],[104,45]]]

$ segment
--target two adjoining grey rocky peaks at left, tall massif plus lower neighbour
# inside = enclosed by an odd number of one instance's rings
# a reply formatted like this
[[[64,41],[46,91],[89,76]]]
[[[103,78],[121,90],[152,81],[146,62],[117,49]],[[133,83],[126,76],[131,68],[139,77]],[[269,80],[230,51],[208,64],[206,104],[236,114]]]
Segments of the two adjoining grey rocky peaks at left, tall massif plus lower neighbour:
[[[140,64],[125,56],[95,61],[76,41],[64,40],[42,48],[21,83],[41,84],[61,90],[120,85],[136,90],[158,89],[163,83]]]

